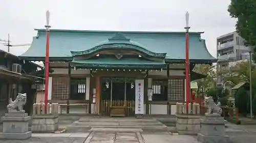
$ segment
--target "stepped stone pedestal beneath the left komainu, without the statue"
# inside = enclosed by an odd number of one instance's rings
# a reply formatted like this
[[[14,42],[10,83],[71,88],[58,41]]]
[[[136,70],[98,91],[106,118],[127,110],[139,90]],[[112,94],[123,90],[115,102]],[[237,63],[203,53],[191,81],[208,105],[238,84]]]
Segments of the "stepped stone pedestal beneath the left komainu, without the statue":
[[[29,131],[29,120],[31,119],[24,111],[11,111],[2,117],[3,132],[2,139],[28,139],[32,133]]]

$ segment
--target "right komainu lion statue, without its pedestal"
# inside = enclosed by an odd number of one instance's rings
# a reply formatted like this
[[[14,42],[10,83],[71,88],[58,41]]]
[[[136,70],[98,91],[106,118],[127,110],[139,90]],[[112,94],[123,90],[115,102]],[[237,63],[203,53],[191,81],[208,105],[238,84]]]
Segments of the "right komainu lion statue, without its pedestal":
[[[214,102],[214,99],[212,97],[204,97],[204,104],[207,107],[208,111],[205,113],[205,115],[213,114],[213,113],[218,113],[221,115],[222,109],[220,107],[221,103],[218,102],[216,105]]]

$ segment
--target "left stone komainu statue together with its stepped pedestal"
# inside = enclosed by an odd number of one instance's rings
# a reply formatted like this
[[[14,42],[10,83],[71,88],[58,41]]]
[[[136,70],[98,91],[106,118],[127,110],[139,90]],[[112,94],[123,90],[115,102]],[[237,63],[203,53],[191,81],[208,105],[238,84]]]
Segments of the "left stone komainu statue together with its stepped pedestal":
[[[23,110],[23,106],[27,101],[27,94],[18,94],[16,99],[7,105],[8,113],[3,120],[3,132],[0,133],[0,138],[3,139],[27,139],[32,133],[29,131],[28,122],[31,119]]]

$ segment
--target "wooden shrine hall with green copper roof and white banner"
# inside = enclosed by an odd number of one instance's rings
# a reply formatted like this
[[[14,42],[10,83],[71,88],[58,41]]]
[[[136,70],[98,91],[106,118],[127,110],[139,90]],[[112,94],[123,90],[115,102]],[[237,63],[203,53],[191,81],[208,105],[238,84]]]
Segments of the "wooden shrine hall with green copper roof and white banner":
[[[21,59],[45,61],[46,31],[36,31]],[[196,64],[216,62],[201,34],[189,33],[191,80],[202,77]],[[49,56],[48,99],[62,113],[174,115],[186,100],[183,32],[50,30]]]

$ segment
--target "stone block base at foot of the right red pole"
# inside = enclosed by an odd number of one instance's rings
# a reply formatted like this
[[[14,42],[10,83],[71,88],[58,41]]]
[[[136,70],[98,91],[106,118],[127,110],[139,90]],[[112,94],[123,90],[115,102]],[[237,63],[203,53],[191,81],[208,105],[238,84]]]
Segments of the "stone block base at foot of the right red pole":
[[[176,130],[179,134],[196,135],[200,132],[199,115],[176,114]]]

